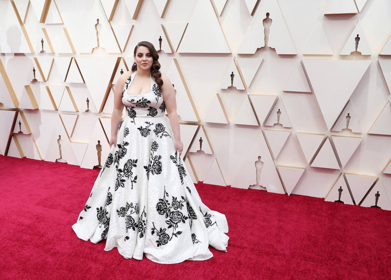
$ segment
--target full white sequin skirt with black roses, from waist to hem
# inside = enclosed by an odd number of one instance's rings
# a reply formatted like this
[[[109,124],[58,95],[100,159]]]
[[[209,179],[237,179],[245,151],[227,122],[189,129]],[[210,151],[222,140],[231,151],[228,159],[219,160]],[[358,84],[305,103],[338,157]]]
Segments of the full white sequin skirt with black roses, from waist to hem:
[[[83,206],[82,206],[83,207]],[[227,251],[224,214],[199,197],[174,148],[166,116],[124,117],[90,197],[72,225],[77,237],[125,258],[174,264]]]

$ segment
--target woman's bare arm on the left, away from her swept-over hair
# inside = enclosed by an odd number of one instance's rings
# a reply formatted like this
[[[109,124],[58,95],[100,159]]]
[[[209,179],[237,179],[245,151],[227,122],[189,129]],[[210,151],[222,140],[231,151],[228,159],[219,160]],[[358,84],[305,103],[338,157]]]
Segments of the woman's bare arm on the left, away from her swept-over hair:
[[[122,74],[115,85],[114,89],[114,108],[111,114],[111,145],[117,146],[117,132],[122,118],[122,111],[124,110],[124,103],[122,103],[122,90],[124,89],[127,78],[131,75],[131,71]]]

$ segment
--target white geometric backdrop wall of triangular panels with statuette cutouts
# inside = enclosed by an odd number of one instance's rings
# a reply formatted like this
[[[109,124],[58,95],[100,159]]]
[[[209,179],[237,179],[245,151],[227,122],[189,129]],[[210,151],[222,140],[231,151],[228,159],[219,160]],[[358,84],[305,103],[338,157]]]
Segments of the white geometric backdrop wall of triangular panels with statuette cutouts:
[[[265,12],[274,48],[262,44]],[[62,133],[68,164],[93,168],[89,149],[109,139],[120,70],[133,63],[136,43],[158,50],[161,36],[161,71],[179,81],[178,114],[199,115],[180,116],[194,182],[249,188],[261,156],[260,186],[250,188],[335,201],[342,186],[341,200],[362,206],[374,205],[379,191],[378,205],[391,210],[390,12],[388,0],[0,0],[0,153],[55,161]],[[104,50],[91,53],[97,18]],[[250,47],[255,54],[242,51]],[[84,112],[87,97],[91,112]],[[265,126],[277,122],[277,107],[285,108],[283,126]],[[341,131],[349,112],[352,131]],[[16,133],[20,119],[30,134]],[[204,152],[196,152],[203,133],[210,147],[203,137]]]

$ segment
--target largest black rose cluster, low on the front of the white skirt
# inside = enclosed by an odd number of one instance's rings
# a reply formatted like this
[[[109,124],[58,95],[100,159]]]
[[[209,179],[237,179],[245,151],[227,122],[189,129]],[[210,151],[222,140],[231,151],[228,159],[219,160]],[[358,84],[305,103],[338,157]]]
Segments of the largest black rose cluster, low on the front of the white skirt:
[[[166,198],[169,197],[169,194],[166,191],[166,187],[164,186],[164,192],[163,192],[163,198],[159,199],[159,202],[156,204],[156,211],[160,215],[165,215],[166,217],[166,224],[168,225],[167,228],[160,228],[157,229],[155,227],[154,222],[152,222],[153,228],[151,228],[151,234],[154,235],[156,232],[156,235],[158,236],[158,240],[156,240],[157,246],[162,246],[167,244],[173,236],[178,237],[182,233],[182,231],[175,231],[181,222],[185,224],[188,217],[183,215],[183,213],[179,210],[183,208],[183,202],[185,202],[185,198],[182,196],[181,198],[183,200],[179,200],[176,197],[172,197],[171,205]],[[166,231],[167,229],[172,228],[172,233],[168,234]]]

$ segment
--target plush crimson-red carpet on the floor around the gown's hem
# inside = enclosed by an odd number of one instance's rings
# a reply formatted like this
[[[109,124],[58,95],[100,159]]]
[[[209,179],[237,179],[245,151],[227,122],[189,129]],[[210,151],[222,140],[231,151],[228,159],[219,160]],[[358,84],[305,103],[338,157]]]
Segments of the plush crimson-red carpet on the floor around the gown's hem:
[[[0,168],[1,279],[390,279],[391,211],[199,183],[228,253],[165,265],[76,237],[99,170],[1,155]]]

